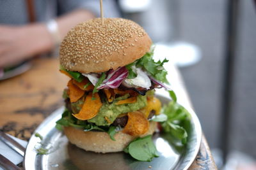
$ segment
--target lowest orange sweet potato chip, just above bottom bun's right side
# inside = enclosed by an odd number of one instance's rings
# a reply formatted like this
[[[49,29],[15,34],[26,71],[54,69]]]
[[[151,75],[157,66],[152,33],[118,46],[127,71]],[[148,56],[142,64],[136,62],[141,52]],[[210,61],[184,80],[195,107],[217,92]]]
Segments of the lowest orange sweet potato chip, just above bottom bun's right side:
[[[124,127],[123,132],[131,136],[140,136],[145,134],[149,129],[149,122],[145,115],[140,111],[129,112],[128,122]]]

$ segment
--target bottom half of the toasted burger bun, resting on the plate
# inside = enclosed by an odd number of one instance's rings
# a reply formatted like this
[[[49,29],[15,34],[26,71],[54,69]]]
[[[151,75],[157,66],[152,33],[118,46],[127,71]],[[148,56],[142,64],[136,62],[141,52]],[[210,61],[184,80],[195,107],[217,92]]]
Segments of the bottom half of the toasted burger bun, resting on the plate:
[[[148,132],[142,136],[153,134],[156,130],[156,125],[156,122],[150,122]],[[106,132],[84,132],[81,129],[76,129],[74,127],[64,127],[64,132],[70,143],[78,146],[79,148],[102,153],[121,152],[133,139],[137,138],[136,136],[118,132],[115,134],[116,141],[113,141],[109,138],[109,134]]]

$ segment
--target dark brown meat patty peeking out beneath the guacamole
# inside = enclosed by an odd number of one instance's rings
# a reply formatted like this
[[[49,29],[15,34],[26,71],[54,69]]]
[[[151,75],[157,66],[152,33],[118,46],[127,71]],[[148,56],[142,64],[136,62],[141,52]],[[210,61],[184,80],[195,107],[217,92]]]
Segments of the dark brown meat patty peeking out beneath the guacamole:
[[[70,99],[65,99],[65,107],[67,108],[68,111],[73,112],[72,111],[72,107],[71,107],[71,103],[70,103]],[[154,115],[156,114],[155,110],[151,110],[149,115],[148,115],[148,119],[152,118]],[[124,116],[124,117],[118,117],[116,118],[116,120],[113,122],[112,125],[115,126],[121,126],[121,127],[125,127],[125,125],[128,122],[128,116]]]

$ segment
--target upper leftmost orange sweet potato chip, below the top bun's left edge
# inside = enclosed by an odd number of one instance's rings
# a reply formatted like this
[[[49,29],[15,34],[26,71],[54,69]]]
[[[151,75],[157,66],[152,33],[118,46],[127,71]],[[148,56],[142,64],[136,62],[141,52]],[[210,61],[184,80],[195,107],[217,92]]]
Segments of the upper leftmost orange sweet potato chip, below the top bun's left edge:
[[[84,90],[81,90],[72,83],[72,79],[68,81],[68,94],[71,102],[78,101],[78,99],[84,96],[84,92]]]

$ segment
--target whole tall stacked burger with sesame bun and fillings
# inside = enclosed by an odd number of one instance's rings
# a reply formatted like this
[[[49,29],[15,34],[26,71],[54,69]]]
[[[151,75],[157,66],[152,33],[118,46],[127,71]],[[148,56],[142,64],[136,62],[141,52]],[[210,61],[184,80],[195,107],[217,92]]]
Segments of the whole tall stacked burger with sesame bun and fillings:
[[[121,152],[153,134],[165,87],[163,60],[152,59],[144,29],[124,18],[100,18],[73,27],[60,46],[60,71],[70,77],[58,120],[70,143],[86,151]]]

